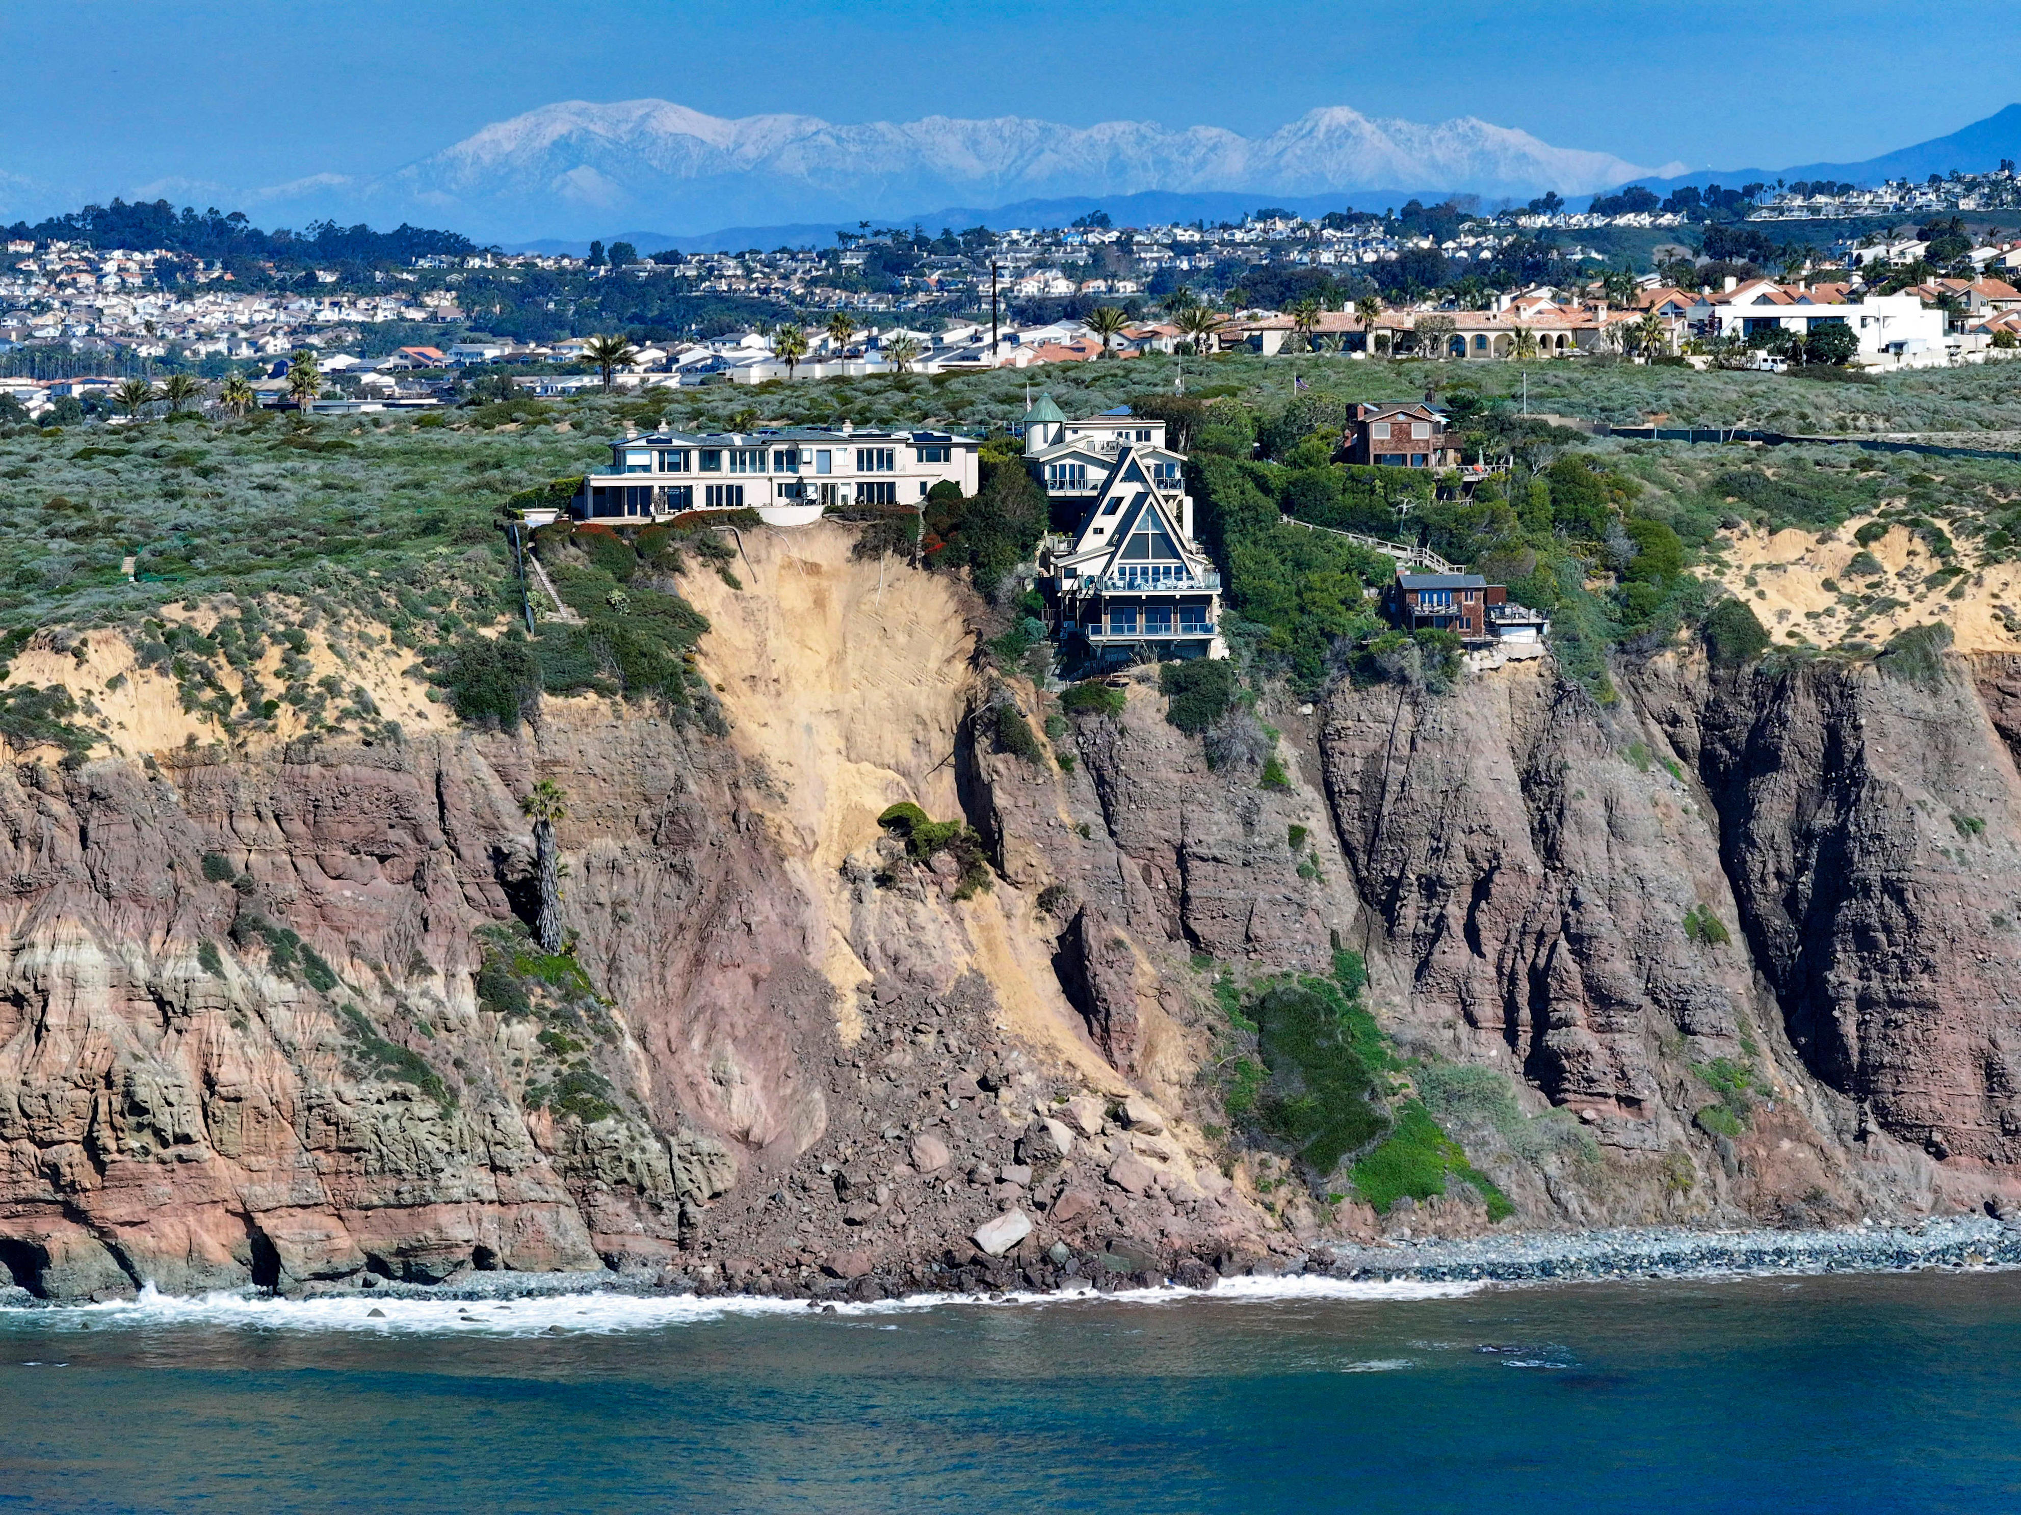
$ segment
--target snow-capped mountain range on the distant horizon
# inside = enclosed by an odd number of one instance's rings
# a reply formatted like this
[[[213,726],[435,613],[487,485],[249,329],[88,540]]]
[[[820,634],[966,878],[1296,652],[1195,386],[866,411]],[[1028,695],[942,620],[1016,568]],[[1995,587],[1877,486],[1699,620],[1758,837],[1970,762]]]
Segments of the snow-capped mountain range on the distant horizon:
[[[1611,154],[1552,147],[1473,117],[1423,125],[1344,105],[1308,111],[1267,137],[1243,137],[1221,127],[1069,127],[1015,115],[863,125],[812,115],[724,119],[641,99],[544,105],[396,174],[291,186],[273,198],[342,198],[376,218],[426,216],[479,236],[580,236],[614,226],[683,232],[1146,190],[1586,194],[1645,172]]]

